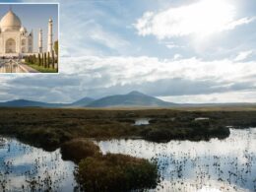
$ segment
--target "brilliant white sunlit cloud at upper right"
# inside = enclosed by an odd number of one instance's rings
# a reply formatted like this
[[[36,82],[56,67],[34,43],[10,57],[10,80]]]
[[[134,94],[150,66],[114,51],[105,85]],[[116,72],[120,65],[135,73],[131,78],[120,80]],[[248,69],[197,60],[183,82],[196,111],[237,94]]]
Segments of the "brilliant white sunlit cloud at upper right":
[[[230,31],[249,24],[255,18],[236,17],[236,7],[227,0],[200,0],[167,10],[146,12],[134,27],[140,35],[155,35],[159,39],[195,34],[198,37]]]

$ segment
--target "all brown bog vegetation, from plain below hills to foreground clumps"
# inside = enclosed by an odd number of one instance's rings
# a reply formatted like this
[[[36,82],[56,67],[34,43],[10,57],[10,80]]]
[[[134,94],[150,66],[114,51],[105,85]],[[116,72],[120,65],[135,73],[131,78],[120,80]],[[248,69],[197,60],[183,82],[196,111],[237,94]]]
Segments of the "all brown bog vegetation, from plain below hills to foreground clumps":
[[[135,125],[138,118],[151,119],[150,124]],[[154,161],[102,155],[92,138],[223,139],[229,135],[226,126],[255,127],[256,111],[0,108],[0,134],[47,151],[61,148],[63,159],[78,164],[76,178],[85,191],[154,188],[159,181]]]

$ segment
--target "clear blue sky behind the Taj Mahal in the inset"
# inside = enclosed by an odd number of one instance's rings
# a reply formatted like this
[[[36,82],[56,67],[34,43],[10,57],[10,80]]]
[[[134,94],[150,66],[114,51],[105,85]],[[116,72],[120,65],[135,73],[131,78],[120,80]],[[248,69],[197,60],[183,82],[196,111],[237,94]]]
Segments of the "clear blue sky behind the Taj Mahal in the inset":
[[[34,52],[38,51],[39,29],[42,30],[43,49],[47,50],[49,18],[51,18],[53,22],[53,40],[58,39],[58,4],[0,4],[0,19],[5,16],[10,8],[20,18],[22,26],[25,27],[28,32],[33,32]]]

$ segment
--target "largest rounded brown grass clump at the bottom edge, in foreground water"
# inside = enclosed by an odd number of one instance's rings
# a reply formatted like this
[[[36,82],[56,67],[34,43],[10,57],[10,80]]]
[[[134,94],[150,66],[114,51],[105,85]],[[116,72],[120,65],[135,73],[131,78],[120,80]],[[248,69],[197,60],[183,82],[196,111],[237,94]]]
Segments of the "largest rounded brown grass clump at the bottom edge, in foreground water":
[[[156,162],[121,154],[81,160],[75,175],[82,190],[92,192],[150,189],[159,182]]]

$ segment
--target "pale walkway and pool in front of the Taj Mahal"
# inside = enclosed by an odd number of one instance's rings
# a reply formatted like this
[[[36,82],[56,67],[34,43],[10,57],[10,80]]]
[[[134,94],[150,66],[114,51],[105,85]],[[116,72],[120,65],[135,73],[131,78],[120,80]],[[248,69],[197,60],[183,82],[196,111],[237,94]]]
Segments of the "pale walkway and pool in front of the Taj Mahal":
[[[1,59],[0,73],[39,73],[19,59]]]

